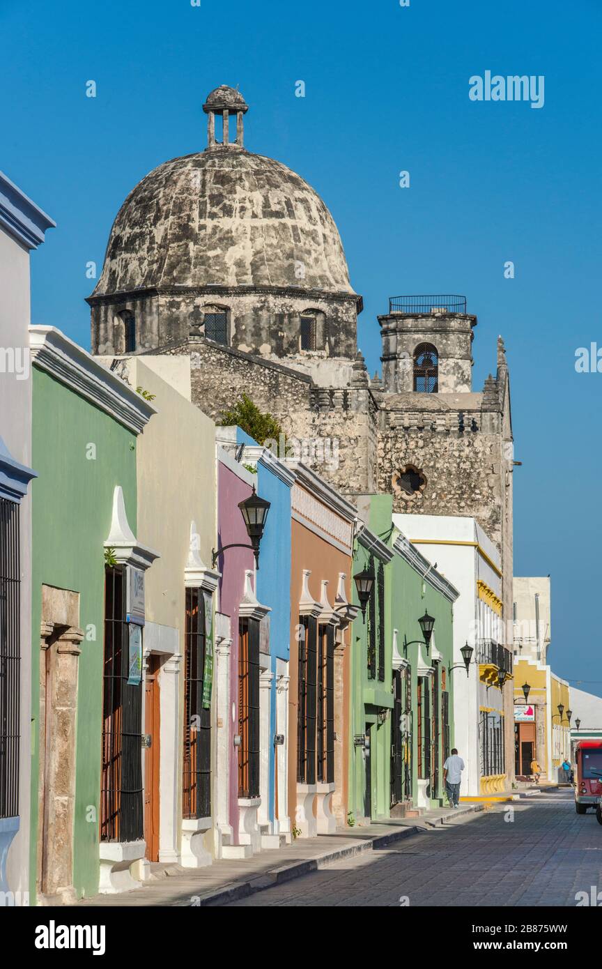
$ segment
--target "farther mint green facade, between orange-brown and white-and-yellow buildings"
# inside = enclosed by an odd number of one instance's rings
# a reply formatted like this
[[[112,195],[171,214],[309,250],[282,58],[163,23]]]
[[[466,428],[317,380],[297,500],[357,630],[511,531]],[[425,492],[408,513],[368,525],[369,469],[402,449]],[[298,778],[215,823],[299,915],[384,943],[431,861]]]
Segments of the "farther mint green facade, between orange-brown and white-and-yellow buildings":
[[[443,803],[453,746],[453,604],[457,590],[392,525],[390,495],[359,495],[356,575],[375,583],[353,623],[349,684],[348,821],[368,824]],[[359,604],[354,588],[354,603]],[[420,619],[435,620],[425,641]]]

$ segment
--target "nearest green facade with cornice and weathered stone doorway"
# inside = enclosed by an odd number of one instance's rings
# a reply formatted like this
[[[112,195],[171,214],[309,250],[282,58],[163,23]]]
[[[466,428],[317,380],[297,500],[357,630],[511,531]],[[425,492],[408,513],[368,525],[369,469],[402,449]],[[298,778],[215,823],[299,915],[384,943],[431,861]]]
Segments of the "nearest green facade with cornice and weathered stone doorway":
[[[60,331],[32,327],[30,338],[39,469],[32,494],[36,904],[99,888],[105,540],[120,507],[135,528],[136,436],[154,410]]]

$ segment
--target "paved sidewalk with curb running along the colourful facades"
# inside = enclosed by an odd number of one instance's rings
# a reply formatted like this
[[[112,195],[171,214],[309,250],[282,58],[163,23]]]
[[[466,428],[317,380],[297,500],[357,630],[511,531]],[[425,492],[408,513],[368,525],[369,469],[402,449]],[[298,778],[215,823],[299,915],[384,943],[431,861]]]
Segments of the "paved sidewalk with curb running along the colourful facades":
[[[461,804],[429,811],[421,818],[394,818],[365,828],[342,828],[316,838],[297,838],[290,845],[262,851],[245,860],[215,860],[204,868],[166,868],[163,877],[140,889],[81,899],[78,906],[207,906],[246,898],[307,875],[328,864],[377,851],[409,835],[445,826],[451,819],[476,814],[483,804]],[[467,819],[466,819],[467,820]]]

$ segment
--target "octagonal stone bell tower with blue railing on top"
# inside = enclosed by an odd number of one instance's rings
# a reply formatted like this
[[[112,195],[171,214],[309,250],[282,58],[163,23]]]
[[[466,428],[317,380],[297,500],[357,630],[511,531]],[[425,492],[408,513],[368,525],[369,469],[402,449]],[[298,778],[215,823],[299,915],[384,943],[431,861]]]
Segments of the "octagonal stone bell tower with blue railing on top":
[[[378,317],[387,393],[470,393],[472,330],[466,297],[391,297]]]

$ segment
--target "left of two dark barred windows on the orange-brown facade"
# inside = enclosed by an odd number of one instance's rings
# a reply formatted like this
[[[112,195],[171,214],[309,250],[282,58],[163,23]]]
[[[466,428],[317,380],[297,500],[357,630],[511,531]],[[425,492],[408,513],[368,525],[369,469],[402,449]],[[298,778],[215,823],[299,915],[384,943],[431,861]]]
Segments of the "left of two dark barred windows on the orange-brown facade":
[[[299,784],[316,784],[317,621],[315,616],[300,617],[299,636],[297,781]]]

